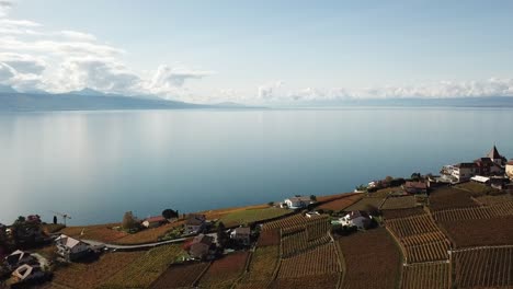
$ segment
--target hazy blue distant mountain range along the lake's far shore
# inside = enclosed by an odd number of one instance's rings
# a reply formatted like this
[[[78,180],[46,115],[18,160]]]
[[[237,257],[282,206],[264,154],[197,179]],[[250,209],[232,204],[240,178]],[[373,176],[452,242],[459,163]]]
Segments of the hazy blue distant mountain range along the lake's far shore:
[[[335,101],[297,102],[280,107],[344,107],[344,106],[391,106],[391,107],[513,107],[513,96],[453,97],[453,99],[347,99]],[[23,111],[102,111],[102,109],[186,109],[186,108],[259,108],[237,103],[214,105],[191,104],[162,100],[155,95],[125,96],[83,89],[61,94],[43,91],[20,93],[0,85],[0,112]]]

